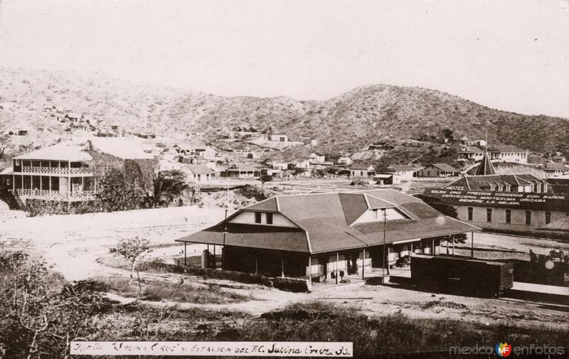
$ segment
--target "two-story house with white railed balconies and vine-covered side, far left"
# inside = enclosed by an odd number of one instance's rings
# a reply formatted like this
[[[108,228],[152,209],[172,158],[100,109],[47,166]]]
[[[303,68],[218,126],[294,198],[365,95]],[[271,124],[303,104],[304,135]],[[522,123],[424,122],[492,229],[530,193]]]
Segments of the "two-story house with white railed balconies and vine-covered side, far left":
[[[97,177],[110,168],[121,169],[150,192],[157,164],[154,156],[128,141],[93,137],[15,156],[11,168],[2,171],[0,184],[21,203],[28,199],[75,203],[94,200]]]

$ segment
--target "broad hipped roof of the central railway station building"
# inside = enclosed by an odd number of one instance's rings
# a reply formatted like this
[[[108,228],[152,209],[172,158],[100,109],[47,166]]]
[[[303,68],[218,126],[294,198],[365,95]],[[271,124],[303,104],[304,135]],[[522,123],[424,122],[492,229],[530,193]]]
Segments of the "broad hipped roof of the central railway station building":
[[[351,193],[278,195],[239,210],[280,213],[297,228],[228,223],[225,245],[311,254],[383,244],[383,221],[355,223],[372,208],[397,208],[407,218],[385,223],[385,242],[418,240],[479,230],[437,212],[422,200],[382,189]],[[224,223],[180,238],[179,242],[223,245]]]

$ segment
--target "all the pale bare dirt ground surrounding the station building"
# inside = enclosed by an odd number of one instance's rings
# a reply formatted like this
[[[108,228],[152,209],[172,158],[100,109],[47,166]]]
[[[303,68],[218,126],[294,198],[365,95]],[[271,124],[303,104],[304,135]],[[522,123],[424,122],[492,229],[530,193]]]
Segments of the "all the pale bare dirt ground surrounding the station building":
[[[97,258],[108,256],[109,248],[122,237],[146,237],[153,243],[154,257],[179,257],[182,245],[175,239],[203,229],[223,219],[223,209],[196,207],[133,210],[115,213],[85,215],[53,215],[28,218],[7,215],[0,219],[0,241],[11,248],[27,247],[43,255],[54,269],[67,279],[78,280],[100,275],[129,272],[97,263]],[[469,241],[466,245],[469,245]],[[537,253],[548,253],[556,248],[569,252],[569,244],[555,240],[538,240],[476,233],[474,246],[478,253],[489,256],[528,257],[532,248]],[[198,255],[203,245],[188,246],[188,255]],[[483,250],[486,249],[486,250]],[[491,249],[494,252],[488,252]],[[443,251],[445,248],[442,249]],[[457,250],[458,251],[458,250]],[[467,250],[464,250],[467,251]],[[412,318],[454,318],[480,323],[509,323],[535,328],[568,326],[567,306],[538,304],[513,299],[479,299],[467,296],[432,294],[398,286],[369,286],[346,284],[341,286],[314,286],[310,294],[296,294],[259,285],[235,284],[227,281],[207,281],[185,274],[143,273],[143,278],[186,282],[206,282],[223,290],[251,294],[252,301],[237,304],[180,304],[181,307],[202,307],[216,311],[244,311],[260,315],[297,301],[325,300],[355,305],[366,314],[394,314],[402,311]],[[120,301],[134,299],[115,298]],[[162,302],[159,305],[164,305]],[[167,304],[167,303],[166,303]]]

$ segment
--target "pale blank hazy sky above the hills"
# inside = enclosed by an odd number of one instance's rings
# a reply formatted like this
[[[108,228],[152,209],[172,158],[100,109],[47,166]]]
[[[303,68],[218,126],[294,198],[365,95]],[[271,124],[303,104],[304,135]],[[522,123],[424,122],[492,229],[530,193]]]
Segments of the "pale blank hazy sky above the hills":
[[[569,0],[0,1],[10,68],[304,100],[420,86],[569,117]]]

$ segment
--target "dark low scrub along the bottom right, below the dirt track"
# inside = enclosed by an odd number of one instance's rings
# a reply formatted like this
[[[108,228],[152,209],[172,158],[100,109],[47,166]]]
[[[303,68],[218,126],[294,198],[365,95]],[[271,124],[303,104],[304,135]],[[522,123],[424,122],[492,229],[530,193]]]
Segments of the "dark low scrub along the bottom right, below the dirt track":
[[[494,347],[496,341],[568,347],[569,328],[484,326],[454,320],[409,318],[401,312],[368,317],[354,306],[311,301],[263,314],[258,320],[219,333],[216,340],[350,341],[358,357],[376,358],[393,353],[440,353],[448,357],[452,346]]]

